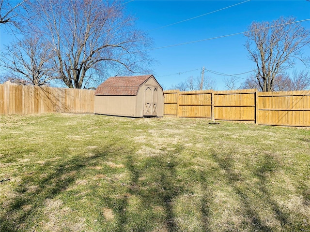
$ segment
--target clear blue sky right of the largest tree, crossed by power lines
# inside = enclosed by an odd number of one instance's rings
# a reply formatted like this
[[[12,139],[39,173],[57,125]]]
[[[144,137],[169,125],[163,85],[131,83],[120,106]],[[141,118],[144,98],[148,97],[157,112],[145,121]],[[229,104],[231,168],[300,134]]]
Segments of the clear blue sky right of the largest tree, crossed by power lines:
[[[149,36],[153,38],[154,48],[243,32],[247,30],[252,21],[272,21],[280,16],[294,16],[296,20],[310,18],[310,1],[307,0],[250,0],[247,2],[234,0],[128,0],[124,2],[128,13],[137,18],[137,27],[148,31]],[[157,29],[237,3],[241,4]],[[302,25],[310,29],[310,21],[303,22]],[[153,66],[153,74],[158,82],[167,89],[171,85],[185,81],[189,76],[201,76],[203,66],[208,70],[226,74],[251,71],[255,69],[255,65],[248,59],[248,53],[244,47],[245,41],[246,37],[240,34],[150,50],[150,56],[158,61]],[[305,53],[310,55],[310,49],[305,50]],[[305,68],[300,63],[296,65],[297,70]],[[196,71],[183,73],[191,70]],[[244,81],[242,78],[247,78],[248,74],[239,75],[240,83]],[[205,76],[216,79],[217,90],[226,89],[223,81],[224,76],[210,72],[206,72]]]

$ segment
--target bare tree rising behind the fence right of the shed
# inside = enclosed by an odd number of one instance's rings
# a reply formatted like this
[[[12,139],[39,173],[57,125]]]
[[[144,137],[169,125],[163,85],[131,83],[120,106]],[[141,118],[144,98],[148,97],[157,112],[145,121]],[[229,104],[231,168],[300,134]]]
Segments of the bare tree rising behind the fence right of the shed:
[[[276,76],[292,68],[295,59],[309,63],[301,49],[310,44],[309,30],[294,20],[280,17],[271,23],[253,22],[245,33],[248,57],[256,64],[255,77],[264,92],[272,91]]]

